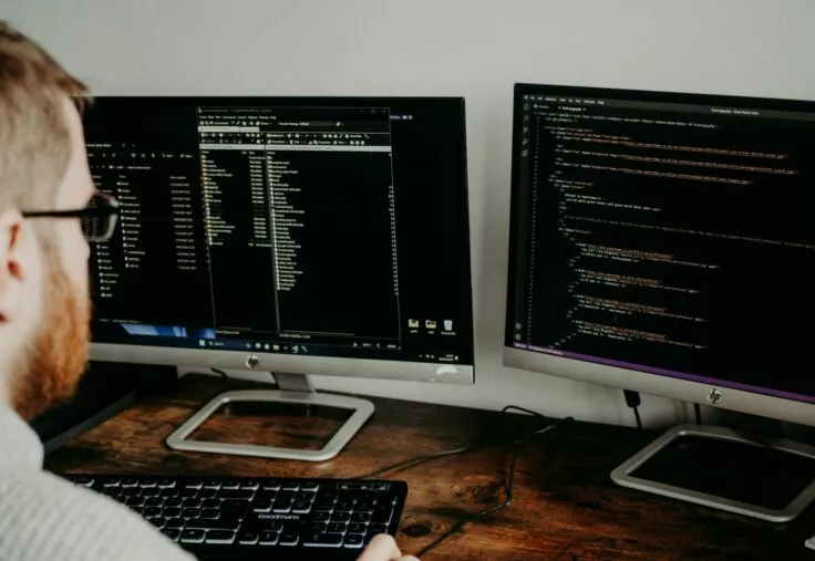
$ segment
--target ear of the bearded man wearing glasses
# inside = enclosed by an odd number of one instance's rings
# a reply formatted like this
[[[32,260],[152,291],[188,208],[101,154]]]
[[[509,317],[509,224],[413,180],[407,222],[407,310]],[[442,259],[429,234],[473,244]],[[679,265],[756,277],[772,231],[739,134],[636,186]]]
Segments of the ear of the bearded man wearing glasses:
[[[31,307],[40,267],[39,247],[30,225],[17,209],[0,211],[0,322]]]

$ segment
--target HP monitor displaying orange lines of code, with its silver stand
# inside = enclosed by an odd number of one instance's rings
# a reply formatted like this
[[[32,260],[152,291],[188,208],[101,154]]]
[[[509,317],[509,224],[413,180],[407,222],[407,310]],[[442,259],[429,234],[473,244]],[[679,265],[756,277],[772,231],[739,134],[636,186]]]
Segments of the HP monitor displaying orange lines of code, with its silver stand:
[[[814,153],[815,103],[517,84],[504,363],[815,425]]]

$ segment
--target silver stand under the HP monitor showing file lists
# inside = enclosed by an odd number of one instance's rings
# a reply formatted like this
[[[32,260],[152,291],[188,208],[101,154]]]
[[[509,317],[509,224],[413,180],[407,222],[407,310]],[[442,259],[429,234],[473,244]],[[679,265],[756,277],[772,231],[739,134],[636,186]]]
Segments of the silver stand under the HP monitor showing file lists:
[[[207,451],[260,458],[324,461],[337,456],[340,450],[362,428],[373,414],[373,404],[365,399],[336,394],[321,394],[306,374],[274,374],[278,389],[246,389],[225,392],[217,395],[198,409],[180,427],[167,437],[167,446],[176,450]],[[229,444],[193,440],[187,437],[221,406],[236,402],[272,402],[289,405],[334,407],[353,413],[319,450],[258,446],[251,444]]]

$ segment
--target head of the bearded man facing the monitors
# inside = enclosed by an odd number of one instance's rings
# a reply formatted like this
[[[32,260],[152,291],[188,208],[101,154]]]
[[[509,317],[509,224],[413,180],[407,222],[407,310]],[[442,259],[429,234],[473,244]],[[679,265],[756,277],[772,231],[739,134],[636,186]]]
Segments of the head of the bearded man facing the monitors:
[[[78,104],[85,87],[0,21],[0,399],[25,418],[69,397],[85,365],[94,187]]]

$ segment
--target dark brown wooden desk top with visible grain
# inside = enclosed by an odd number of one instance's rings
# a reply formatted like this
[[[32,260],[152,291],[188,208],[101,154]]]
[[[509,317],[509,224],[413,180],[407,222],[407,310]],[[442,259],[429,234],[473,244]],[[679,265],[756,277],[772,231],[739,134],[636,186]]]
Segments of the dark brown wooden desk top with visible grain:
[[[512,438],[541,426],[541,419],[532,417],[373,398],[376,413],[371,423],[337,458],[323,464],[178,453],[164,445],[165,437],[215,394],[252,386],[186,376],[172,394],[147,398],[56,450],[47,458],[47,468],[99,474],[353,477],[465,445],[484,426],[507,435],[503,445],[383,476],[410,485],[398,540],[403,551],[413,553],[457,520],[472,520],[474,513],[495,503],[514,449]],[[271,435],[287,444],[309,444],[328,424],[307,425],[299,419],[295,426],[274,426],[264,416],[224,415],[205,429],[243,435],[238,439],[244,441]],[[772,524],[613,485],[610,470],[653,436],[574,423],[563,438],[532,443],[517,464],[515,502],[486,522],[466,523],[424,559],[815,560],[815,552],[803,547],[805,538],[815,534],[815,508],[795,523]]]

